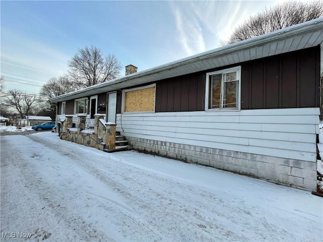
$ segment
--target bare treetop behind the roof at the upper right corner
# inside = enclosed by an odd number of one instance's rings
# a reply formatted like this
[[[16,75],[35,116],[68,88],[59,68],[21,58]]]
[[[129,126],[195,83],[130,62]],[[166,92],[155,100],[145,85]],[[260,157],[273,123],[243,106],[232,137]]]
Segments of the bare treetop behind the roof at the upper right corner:
[[[306,3],[285,2],[250,17],[234,30],[228,41],[222,42],[222,44],[232,44],[322,16],[323,2],[321,0]]]

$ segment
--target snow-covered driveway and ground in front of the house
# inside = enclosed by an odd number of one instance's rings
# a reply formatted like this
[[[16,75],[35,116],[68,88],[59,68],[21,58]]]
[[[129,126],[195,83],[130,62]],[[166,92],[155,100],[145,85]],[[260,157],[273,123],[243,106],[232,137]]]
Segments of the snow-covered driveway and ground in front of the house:
[[[323,240],[323,199],[306,191],[49,132],[0,141],[1,232],[32,241]]]

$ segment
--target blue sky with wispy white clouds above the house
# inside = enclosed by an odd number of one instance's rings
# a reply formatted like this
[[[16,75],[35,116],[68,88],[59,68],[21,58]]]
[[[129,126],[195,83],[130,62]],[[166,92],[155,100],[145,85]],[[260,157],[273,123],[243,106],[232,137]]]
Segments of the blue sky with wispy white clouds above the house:
[[[5,90],[39,93],[49,78],[67,72],[78,48],[90,45],[138,71],[214,49],[278,2],[1,1]]]

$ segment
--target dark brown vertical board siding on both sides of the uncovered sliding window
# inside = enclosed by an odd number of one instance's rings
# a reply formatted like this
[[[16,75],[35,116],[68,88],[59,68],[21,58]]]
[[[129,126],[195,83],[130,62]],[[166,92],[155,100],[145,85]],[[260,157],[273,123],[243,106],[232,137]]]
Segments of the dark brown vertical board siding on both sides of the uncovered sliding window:
[[[317,46],[157,81],[155,112],[204,110],[206,73],[235,66],[241,66],[241,109],[319,107],[319,51]]]

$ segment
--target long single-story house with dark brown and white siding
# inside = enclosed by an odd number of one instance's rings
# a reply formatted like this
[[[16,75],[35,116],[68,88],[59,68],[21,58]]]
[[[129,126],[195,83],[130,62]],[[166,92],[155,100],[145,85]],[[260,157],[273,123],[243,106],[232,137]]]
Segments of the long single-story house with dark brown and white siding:
[[[50,100],[135,149],[313,190],[322,41],[319,18]]]

